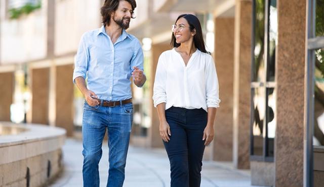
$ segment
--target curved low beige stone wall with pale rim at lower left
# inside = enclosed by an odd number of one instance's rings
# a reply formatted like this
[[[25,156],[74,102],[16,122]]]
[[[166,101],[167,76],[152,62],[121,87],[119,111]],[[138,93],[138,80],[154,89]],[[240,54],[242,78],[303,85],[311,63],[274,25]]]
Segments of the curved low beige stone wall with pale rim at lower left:
[[[62,169],[65,130],[0,122],[0,187],[46,186]]]

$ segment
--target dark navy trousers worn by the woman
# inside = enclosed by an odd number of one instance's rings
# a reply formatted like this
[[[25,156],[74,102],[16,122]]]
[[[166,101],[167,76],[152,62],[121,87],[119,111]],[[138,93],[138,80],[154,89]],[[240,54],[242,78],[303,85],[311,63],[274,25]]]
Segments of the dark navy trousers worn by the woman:
[[[166,110],[170,141],[164,142],[170,160],[171,187],[198,187],[207,125],[207,112],[200,109],[171,107]]]

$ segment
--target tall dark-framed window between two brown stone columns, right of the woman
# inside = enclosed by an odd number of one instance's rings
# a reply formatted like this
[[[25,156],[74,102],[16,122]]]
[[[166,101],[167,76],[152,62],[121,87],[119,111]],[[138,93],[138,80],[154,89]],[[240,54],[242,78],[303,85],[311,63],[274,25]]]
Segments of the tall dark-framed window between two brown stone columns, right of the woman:
[[[276,0],[253,2],[251,159],[273,161],[275,120]]]

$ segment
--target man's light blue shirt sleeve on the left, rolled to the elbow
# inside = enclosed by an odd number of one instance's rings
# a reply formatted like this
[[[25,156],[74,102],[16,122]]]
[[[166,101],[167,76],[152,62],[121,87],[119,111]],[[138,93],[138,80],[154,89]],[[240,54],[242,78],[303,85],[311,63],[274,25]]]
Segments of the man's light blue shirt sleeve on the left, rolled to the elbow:
[[[83,77],[86,79],[89,65],[89,49],[86,43],[86,33],[81,37],[74,61],[73,83],[75,78]]]

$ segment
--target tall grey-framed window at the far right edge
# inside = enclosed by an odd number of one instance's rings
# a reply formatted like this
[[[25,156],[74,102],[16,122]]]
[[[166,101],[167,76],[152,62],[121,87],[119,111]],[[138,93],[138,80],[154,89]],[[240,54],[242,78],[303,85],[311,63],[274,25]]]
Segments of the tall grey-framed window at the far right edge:
[[[313,186],[314,157],[313,146],[323,146],[324,134],[324,0],[308,0],[307,10],[307,70],[306,70],[306,141],[304,148],[304,186]]]

